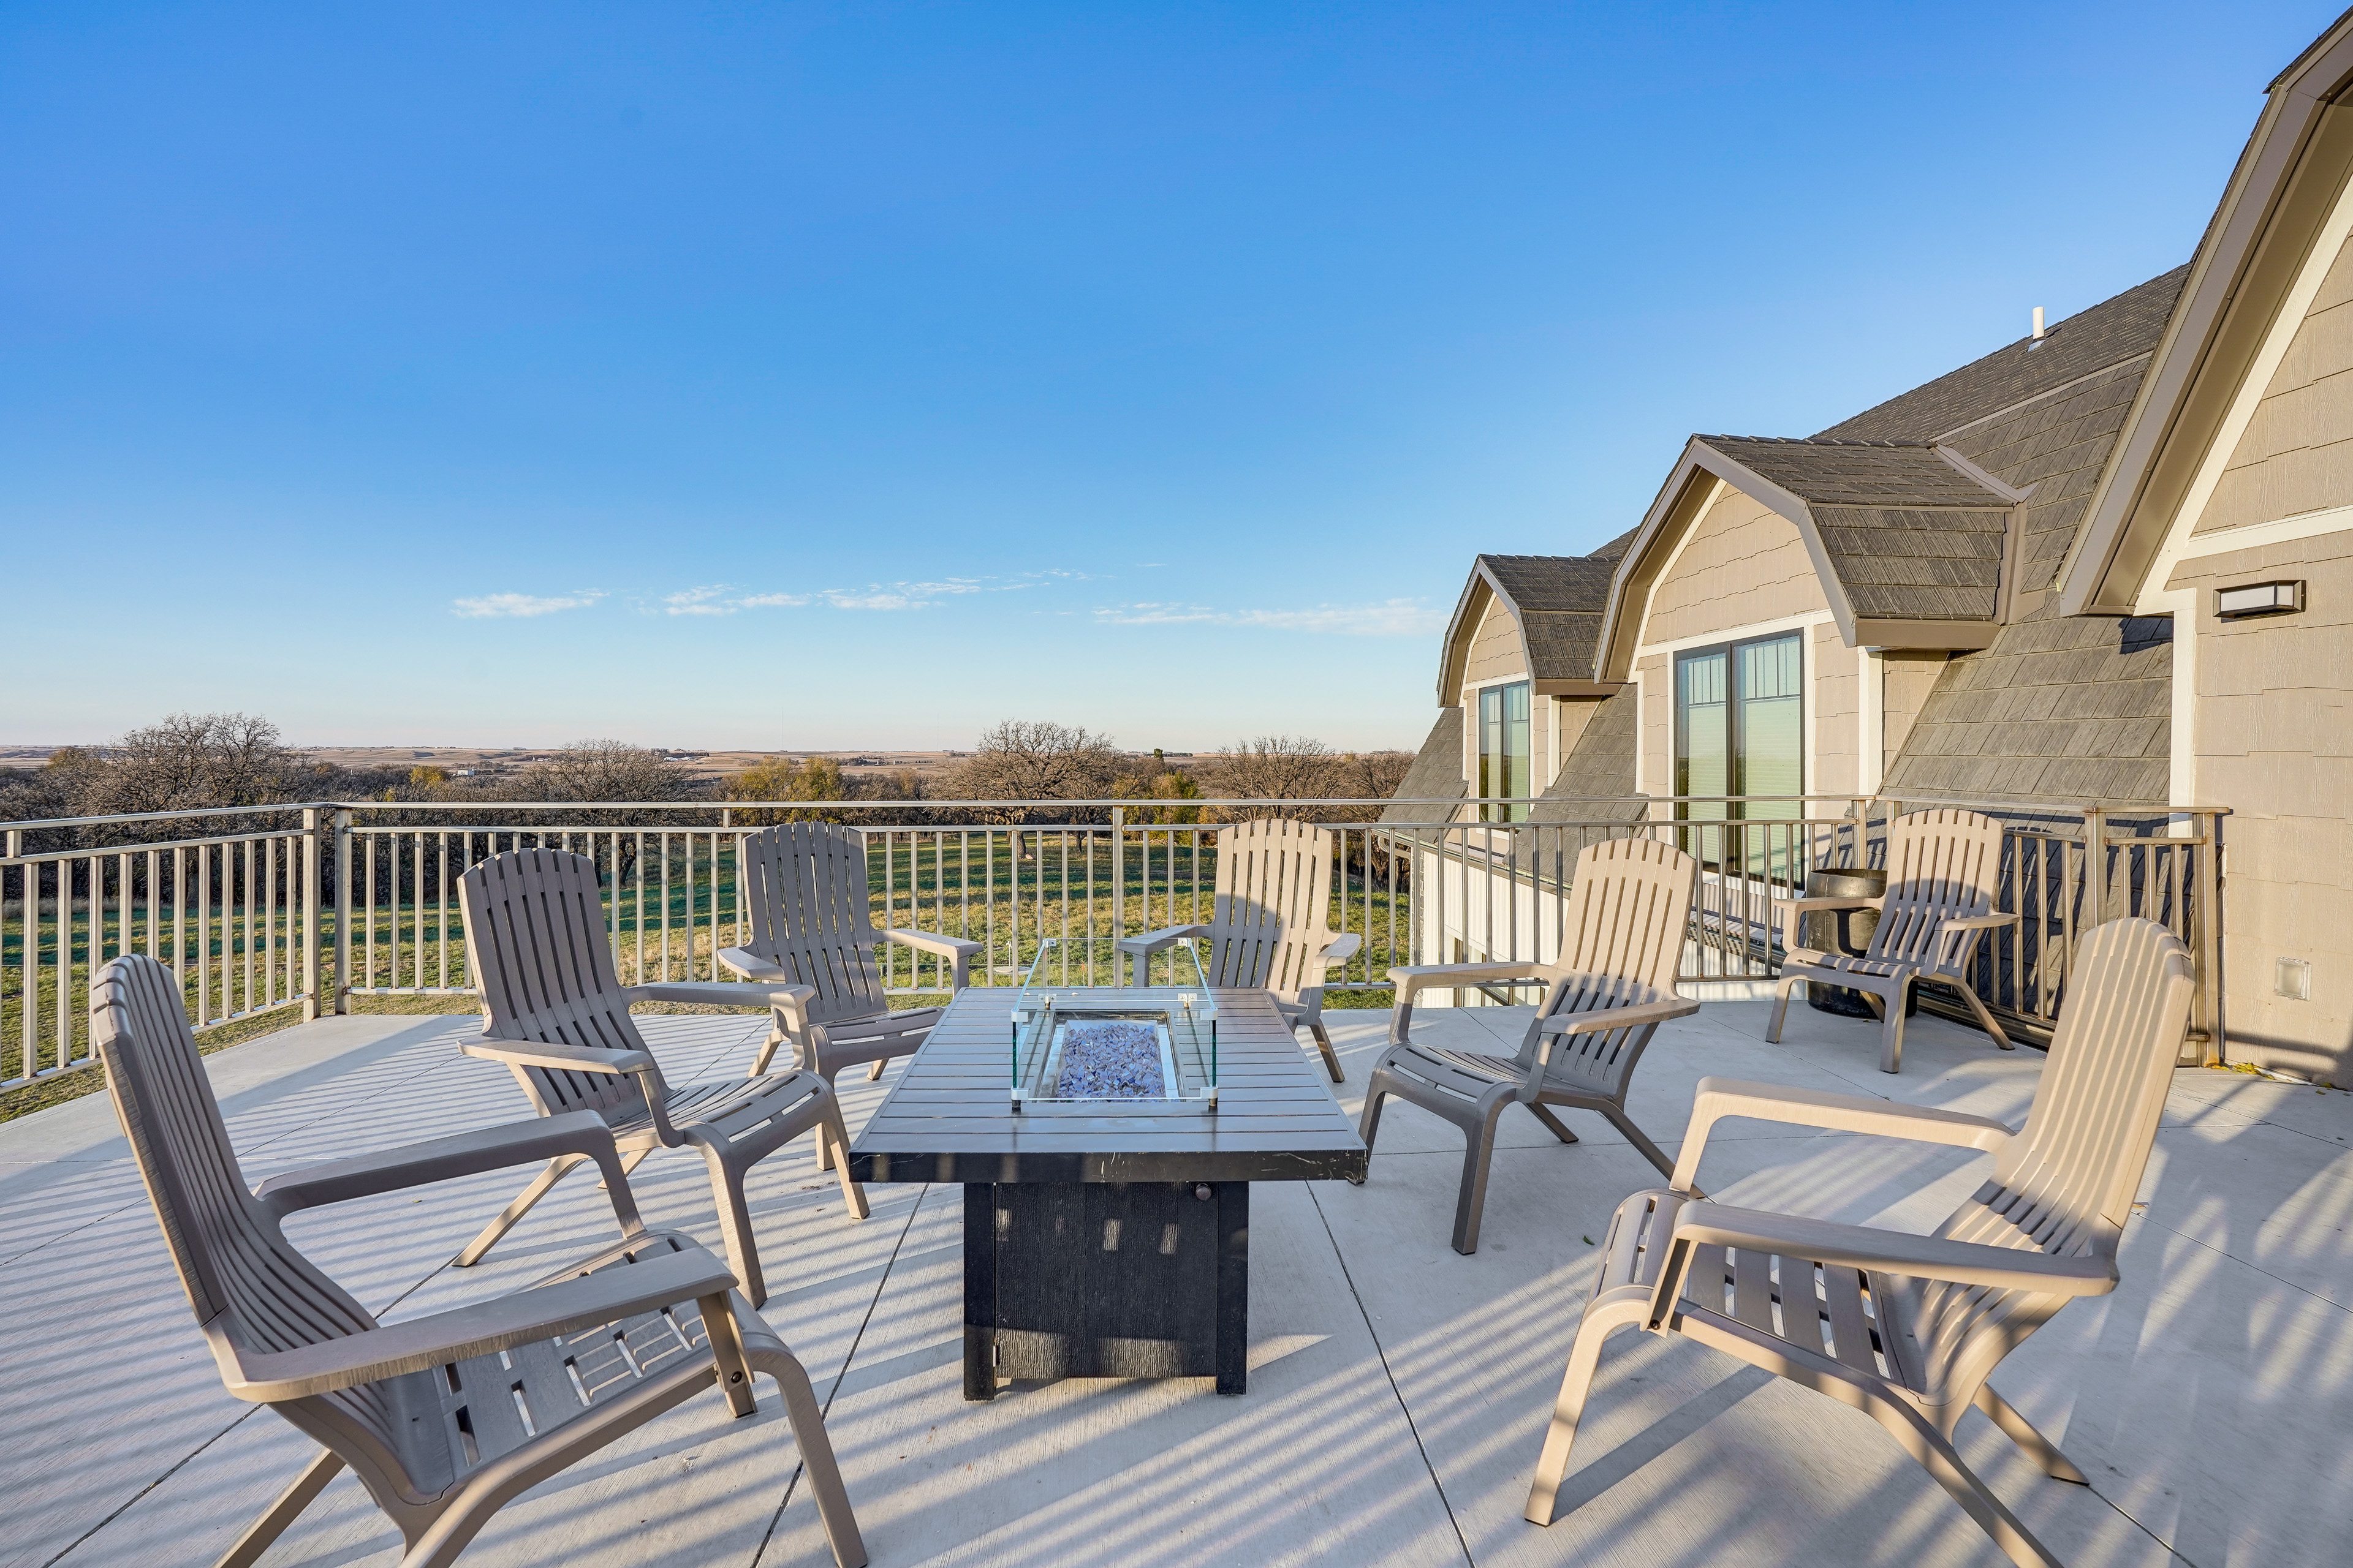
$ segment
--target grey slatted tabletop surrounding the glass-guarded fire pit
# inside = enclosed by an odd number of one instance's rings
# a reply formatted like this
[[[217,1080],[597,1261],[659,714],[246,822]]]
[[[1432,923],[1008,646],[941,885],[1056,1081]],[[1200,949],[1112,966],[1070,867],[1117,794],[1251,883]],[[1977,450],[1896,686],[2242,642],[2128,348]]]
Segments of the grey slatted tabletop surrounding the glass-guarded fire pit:
[[[1014,987],[948,1004],[849,1150],[861,1182],[1289,1182],[1362,1178],[1365,1140],[1268,992],[1217,997],[1217,1114],[1014,1114]],[[1056,990],[1066,1006],[1132,990]],[[1108,1110],[1108,1107],[1106,1107]]]

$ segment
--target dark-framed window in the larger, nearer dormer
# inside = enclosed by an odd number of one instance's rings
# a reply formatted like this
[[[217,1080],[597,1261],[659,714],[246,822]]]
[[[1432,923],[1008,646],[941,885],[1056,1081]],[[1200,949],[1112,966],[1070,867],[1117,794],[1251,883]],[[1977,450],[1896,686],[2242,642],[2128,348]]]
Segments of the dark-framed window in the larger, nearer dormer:
[[[1805,656],[1800,632],[1675,656],[1675,795],[1805,790]],[[1713,802],[1699,818],[1788,818],[1795,804]]]

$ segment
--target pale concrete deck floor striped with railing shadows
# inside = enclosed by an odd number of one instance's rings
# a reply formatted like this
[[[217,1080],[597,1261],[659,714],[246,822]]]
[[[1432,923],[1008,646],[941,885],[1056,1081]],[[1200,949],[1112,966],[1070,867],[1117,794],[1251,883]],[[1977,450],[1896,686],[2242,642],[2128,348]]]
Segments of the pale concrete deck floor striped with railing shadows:
[[[1522,1009],[1428,1011],[1511,1048]],[[1344,1013],[1355,1110],[1379,1013]],[[1706,1074],[1885,1093],[2017,1124],[2042,1058],[1918,1020],[1901,1077],[1868,1025],[1711,1004],[1661,1032],[1633,1095],[1673,1152]],[[464,1018],[332,1018],[209,1058],[249,1180],[525,1110],[456,1053]],[[751,1056],[751,1016],[647,1018],[675,1079]],[[885,1084],[856,1077],[852,1131]],[[1652,1168],[1598,1117],[1558,1145],[1511,1114],[1475,1258],[1447,1248],[1461,1143],[1391,1103],[1365,1187],[1254,1197],[1252,1389],[1021,1385],[960,1399],[960,1201],[871,1187],[849,1225],[807,1150],[762,1166],[753,1213],[793,1342],[831,1408],[873,1561],[1089,1563],[1920,1563],[2005,1559],[1864,1415],[1715,1352],[1619,1335],[1562,1519],[1520,1519],[1595,1251]],[[1925,1227],[1967,1152],[1729,1124],[1706,1185],[1744,1204]],[[1835,1178],[1831,1173],[1838,1173]],[[1849,1182],[1861,1171],[1866,1185]],[[445,1260],[520,1175],[313,1211],[294,1239],[372,1309],[433,1312],[612,1234],[593,1182],[558,1190],[480,1269]],[[656,1225],[718,1244],[701,1161],[638,1173]],[[1845,1197],[1845,1201],[1838,1201]],[[2353,1561],[2353,1095],[2184,1072],[2115,1295],[2068,1307],[1998,1385],[2092,1476],[2028,1467],[1979,1415],[1967,1460],[2068,1563]],[[0,1568],[209,1563],[313,1453],[226,1396],[104,1095],[0,1124]],[[769,1385],[760,1415],[694,1401],[511,1505],[468,1563],[816,1568],[816,1514]],[[1574,1509],[1574,1512],[1569,1512]],[[398,1535],[339,1476],[268,1563],[391,1563]]]

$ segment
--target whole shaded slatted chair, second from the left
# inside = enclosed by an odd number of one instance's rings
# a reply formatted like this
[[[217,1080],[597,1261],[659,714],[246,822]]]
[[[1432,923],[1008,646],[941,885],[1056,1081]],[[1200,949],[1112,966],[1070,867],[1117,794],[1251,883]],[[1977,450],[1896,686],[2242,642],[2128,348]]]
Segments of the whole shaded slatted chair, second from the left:
[[[466,1056],[506,1063],[541,1117],[593,1110],[612,1128],[626,1157],[624,1171],[635,1171],[654,1150],[701,1150],[727,1262],[751,1305],[765,1305],[767,1279],[744,1204],[744,1178],[753,1164],[812,1128],[821,1168],[826,1150],[847,1152],[849,1133],[833,1086],[814,1072],[784,1072],[671,1088],[628,1004],[769,1006],[776,992],[725,980],[621,985],[588,856],[555,849],[492,856],[459,877],[459,907],[466,914],[466,969],[487,1013],[480,1039],[464,1046]],[[553,1157],[466,1244],[459,1267],[480,1262],[579,1164],[579,1154]],[[847,1161],[840,1164],[840,1182],[849,1215],[864,1220],[866,1192],[849,1180]]]

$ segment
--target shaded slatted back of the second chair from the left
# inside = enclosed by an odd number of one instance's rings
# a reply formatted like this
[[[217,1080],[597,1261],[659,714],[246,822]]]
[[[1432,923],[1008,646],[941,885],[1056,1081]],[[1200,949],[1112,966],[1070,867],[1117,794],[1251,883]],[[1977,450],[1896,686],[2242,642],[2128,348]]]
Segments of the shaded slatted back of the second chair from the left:
[[[466,973],[482,994],[487,1039],[645,1051],[612,964],[595,860],[560,849],[489,856],[456,884]],[[572,1110],[642,1114],[631,1074],[515,1067],[544,1117]]]

